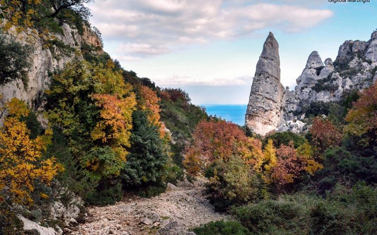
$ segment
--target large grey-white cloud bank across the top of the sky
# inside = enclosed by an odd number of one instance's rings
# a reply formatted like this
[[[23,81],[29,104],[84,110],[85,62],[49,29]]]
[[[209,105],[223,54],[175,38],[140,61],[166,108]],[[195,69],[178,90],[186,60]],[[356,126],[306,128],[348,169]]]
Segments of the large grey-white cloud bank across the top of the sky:
[[[267,27],[299,32],[333,15],[297,0],[97,0],[89,6],[92,23],[123,58],[253,36]]]

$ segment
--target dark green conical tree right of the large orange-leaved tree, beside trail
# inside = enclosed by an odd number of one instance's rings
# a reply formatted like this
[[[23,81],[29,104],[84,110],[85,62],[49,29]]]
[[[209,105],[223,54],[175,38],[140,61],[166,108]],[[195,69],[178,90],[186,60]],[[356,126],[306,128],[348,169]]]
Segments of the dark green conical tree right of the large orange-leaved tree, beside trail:
[[[159,129],[142,110],[133,113],[132,121],[131,148],[121,178],[128,186],[156,183],[163,177],[168,159]]]

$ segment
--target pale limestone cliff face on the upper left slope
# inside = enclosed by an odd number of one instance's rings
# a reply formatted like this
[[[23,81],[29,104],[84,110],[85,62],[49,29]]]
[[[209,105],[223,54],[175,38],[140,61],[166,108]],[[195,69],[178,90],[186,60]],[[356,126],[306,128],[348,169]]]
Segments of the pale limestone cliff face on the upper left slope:
[[[82,35],[68,24],[63,24],[62,29],[63,34],[56,34],[54,37],[65,47],[71,47],[71,53],[67,53],[64,48],[57,46],[46,48],[38,35],[30,37],[24,33],[15,34],[17,41],[30,44],[33,47],[33,53],[30,56],[32,65],[27,74],[27,84],[18,79],[0,86],[0,94],[3,95],[2,102],[16,97],[26,101],[31,108],[37,110],[41,104],[40,98],[48,87],[49,71],[53,71],[55,68],[63,68],[65,63],[74,58],[74,50],[80,51],[81,45],[84,43],[102,48],[100,38],[85,25]],[[25,40],[26,38],[28,40]],[[102,50],[99,50],[99,53],[102,52]]]

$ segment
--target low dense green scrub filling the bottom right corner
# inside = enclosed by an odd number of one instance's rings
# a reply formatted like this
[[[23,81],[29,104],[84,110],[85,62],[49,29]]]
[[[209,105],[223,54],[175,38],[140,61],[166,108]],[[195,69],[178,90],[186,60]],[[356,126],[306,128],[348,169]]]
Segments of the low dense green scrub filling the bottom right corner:
[[[375,234],[376,188],[336,187],[326,198],[297,193],[234,208],[253,234]]]

